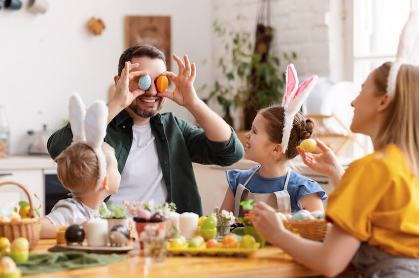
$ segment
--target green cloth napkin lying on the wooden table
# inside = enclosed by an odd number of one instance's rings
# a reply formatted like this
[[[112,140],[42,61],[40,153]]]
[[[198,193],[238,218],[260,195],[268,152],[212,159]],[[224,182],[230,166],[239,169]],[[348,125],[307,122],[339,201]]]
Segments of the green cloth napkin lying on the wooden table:
[[[67,251],[47,254],[30,254],[26,263],[21,263],[17,266],[22,271],[22,274],[40,274],[76,268],[103,266],[122,261],[128,257],[129,255],[104,255],[80,251]]]

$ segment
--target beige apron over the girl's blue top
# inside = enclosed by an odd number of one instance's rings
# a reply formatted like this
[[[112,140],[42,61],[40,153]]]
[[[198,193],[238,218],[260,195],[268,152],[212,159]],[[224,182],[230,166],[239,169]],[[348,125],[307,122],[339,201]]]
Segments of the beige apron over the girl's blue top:
[[[288,168],[288,173],[286,174],[284,189],[276,191],[274,193],[252,193],[247,188],[246,185],[252,176],[259,170],[260,166],[247,178],[244,185],[239,183],[236,189],[236,197],[234,198],[234,216],[243,217],[245,210],[240,206],[240,202],[253,199],[254,202],[265,202],[272,208],[279,210],[280,212],[290,213],[291,212],[291,199],[289,197],[288,191],[286,190],[288,186],[289,176],[291,174],[291,169]]]

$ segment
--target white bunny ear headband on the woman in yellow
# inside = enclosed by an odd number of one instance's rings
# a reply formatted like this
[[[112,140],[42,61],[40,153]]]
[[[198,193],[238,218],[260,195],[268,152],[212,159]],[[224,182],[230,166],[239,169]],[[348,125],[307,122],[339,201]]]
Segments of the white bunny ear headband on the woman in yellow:
[[[396,93],[397,74],[402,65],[419,66],[419,13],[412,12],[403,27],[397,48],[396,61],[391,65],[387,77],[387,94]]]

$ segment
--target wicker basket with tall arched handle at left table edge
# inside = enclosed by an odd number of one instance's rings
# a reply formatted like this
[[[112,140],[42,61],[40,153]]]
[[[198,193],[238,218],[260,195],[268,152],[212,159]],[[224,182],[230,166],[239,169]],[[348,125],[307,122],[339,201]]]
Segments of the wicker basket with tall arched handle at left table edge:
[[[0,186],[5,184],[14,184],[19,186],[25,191],[29,199],[29,217],[30,220],[17,221],[17,222],[0,222],[0,237],[6,237],[12,242],[14,239],[23,237],[26,238],[29,242],[29,250],[32,250],[36,243],[39,241],[39,229],[38,229],[38,219],[35,217],[35,210],[32,206],[32,199],[28,190],[21,184],[14,181],[5,181],[1,182]]]

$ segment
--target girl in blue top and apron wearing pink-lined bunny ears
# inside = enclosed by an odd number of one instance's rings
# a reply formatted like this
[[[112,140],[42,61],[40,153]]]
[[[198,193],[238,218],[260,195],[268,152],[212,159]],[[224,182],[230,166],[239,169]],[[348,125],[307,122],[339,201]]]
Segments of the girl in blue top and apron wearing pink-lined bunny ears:
[[[297,111],[314,87],[316,76],[297,88],[297,73],[293,65],[287,68],[287,93],[282,106],[260,110],[246,133],[244,158],[260,163],[250,170],[227,170],[229,188],[221,209],[243,216],[240,202],[248,199],[264,201],[283,212],[302,208],[324,210],[327,198],[317,182],[291,171],[287,162],[294,158],[302,140],[313,133],[314,123]]]

